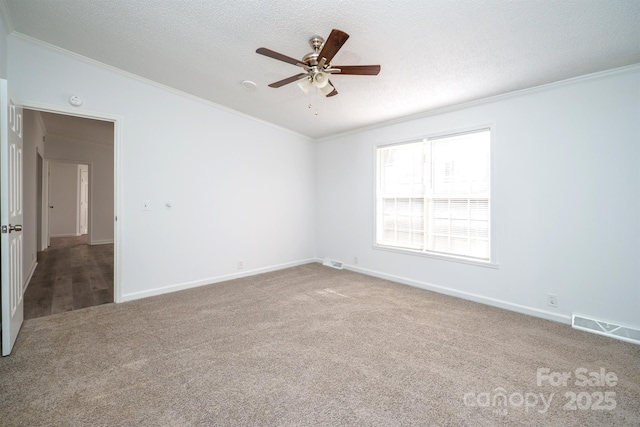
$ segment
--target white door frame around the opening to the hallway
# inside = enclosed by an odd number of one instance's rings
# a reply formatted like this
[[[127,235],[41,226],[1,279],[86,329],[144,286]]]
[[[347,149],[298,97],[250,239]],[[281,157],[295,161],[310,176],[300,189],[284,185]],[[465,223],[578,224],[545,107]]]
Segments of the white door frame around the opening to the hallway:
[[[85,110],[84,108],[77,107],[64,107],[60,105],[45,104],[41,102],[34,102],[24,99],[19,99],[16,102],[17,105],[21,105],[23,108],[30,110],[44,111],[47,113],[65,114],[68,116],[82,117],[85,119],[101,120],[113,123],[113,300],[116,303],[122,302],[122,289],[121,289],[121,254],[122,254],[122,227],[119,225],[122,222],[120,217],[120,205],[121,205],[121,144],[122,144],[122,124],[123,117],[115,114],[96,112]],[[45,161],[47,159],[45,158]],[[48,163],[48,162],[47,162]],[[81,162],[79,162],[81,163]],[[90,162],[84,162],[83,164],[90,164]],[[46,166],[48,170],[48,164]],[[89,166],[89,174],[91,174],[91,166]],[[91,183],[91,176],[89,182]],[[48,183],[47,183],[48,186]],[[89,196],[91,197],[91,188],[89,188]],[[91,206],[91,200],[89,201]],[[46,205],[48,206],[48,205]],[[48,218],[47,218],[48,220]]]

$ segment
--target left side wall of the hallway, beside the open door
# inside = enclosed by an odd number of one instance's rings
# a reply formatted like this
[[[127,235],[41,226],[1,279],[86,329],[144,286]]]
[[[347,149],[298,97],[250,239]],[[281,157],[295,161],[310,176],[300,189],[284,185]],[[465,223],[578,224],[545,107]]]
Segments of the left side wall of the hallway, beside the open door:
[[[1,20],[0,20],[1,21]],[[23,206],[24,217],[22,228],[23,239],[23,277],[29,280],[30,273],[35,267],[37,259],[37,165],[38,152],[44,154],[42,137],[45,135],[42,121],[38,119],[37,111],[24,110],[23,132]]]

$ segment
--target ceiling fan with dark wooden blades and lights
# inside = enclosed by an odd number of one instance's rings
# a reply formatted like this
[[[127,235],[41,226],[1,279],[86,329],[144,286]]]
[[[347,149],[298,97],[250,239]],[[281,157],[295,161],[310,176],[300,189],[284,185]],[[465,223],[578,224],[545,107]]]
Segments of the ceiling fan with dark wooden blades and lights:
[[[304,93],[309,93],[309,89],[315,86],[325,96],[335,96],[338,91],[329,80],[330,74],[375,76],[380,72],[379,65],[331,65],[331,60],[348,38],[349,34],[335,29],[331,30],[331,34],[329,34],[329,38],[326,41],[320,36],[313,36],[309,39],[313,52],[306,54],[302,60],[291,58],[266,47],[257,49],[256,53],[296,65],[305,71],[271,83],[269,87],[278,88],[298,81],[298,86]]]

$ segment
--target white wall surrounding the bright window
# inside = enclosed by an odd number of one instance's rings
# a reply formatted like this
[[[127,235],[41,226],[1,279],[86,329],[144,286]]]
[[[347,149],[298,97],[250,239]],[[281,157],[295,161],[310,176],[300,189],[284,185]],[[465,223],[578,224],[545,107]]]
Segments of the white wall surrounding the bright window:
[[[636,67],[321,142],[318,256],[555,320],[639,327],[639,113]],[[499,268],[373,249],[376,144],[487,123]]]

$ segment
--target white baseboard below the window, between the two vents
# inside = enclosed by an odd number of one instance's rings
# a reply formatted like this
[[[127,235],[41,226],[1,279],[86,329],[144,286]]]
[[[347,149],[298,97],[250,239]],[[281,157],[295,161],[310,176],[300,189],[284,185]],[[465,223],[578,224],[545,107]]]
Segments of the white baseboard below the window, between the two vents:
[[[318,262],[318,260],[316,260]],[[321,262],[321,261],[320,261]],[[449,295],[456,298],[465,299],[468,301],[478,302],[480,304],[490,305],[492,307],[498,307],[509,311],[515,311],[516,313],[527,314],[529,316],[539,317],[546,320],[552,320],[554,322],[571,324],[571,316],[552,313],[546,310],[540,310],[538,308],[527,307],[520,304],[514,304],[508,301],[503,301],[495,298],[489,298],[470,292],[458,291],[456,289],[447,288],[445,286],[438,286],[432,283],[421,282],[418,280],[409,279],[406,277],[395,276],[392,274],[382,273],[380,271],[369,270],[356,265],[344,265],[346,270],[354,271],[356,273],[362,273],[367,276],[378,277],[380,279],[390,280],[392,282],[401,283],[403,285],[409,285],[416,288],[424,289],[427,291],[437,292],[439,294]]]

